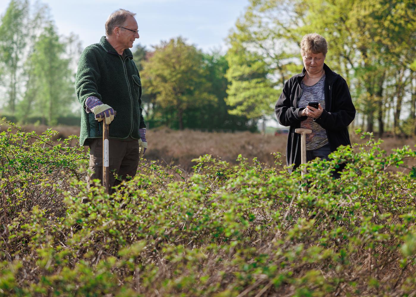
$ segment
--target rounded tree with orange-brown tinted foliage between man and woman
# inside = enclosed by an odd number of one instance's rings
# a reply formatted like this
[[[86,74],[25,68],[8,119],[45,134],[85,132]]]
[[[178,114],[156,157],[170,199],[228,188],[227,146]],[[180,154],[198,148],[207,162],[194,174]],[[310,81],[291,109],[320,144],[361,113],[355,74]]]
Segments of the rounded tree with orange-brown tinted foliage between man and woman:
[[[156,103],[165,116],[178,121],[179,129],[184,127],[183,115],[187,109],[215,101],[209,92],[202,52],[187,45],[181,37],[156,46],[153,56],[143,63],[143,69],[149,92],[156,94]]]

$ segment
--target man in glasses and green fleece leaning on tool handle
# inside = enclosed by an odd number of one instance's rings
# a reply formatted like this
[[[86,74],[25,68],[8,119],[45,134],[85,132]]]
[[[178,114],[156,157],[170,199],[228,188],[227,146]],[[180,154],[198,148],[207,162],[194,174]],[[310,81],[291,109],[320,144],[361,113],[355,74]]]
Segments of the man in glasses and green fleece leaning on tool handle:
[[[106,36],[86,47],[79,59],[75,88],[83,106],[80,144],[90,148],[89,186],[94,179],[102,180],[103,121],[111,123],[110,188],[136,175],[139,158],[146,151],[140,75],[129,50],[139,38],[135,15],[124,9],[111,13],[105,23]]]

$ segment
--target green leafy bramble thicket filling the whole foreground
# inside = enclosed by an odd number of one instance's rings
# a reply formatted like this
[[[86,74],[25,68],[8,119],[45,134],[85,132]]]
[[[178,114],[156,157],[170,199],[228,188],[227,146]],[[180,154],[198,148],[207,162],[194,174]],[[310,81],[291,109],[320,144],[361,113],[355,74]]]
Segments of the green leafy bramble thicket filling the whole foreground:
[[[386,153],[367,135],[304,179],[279,154],[274,166],[205,155],[189,174],[144,162],[109,196],[87,189],[84,151],[53,134],[0,134],[1,296],[416,292],[408,146]]]

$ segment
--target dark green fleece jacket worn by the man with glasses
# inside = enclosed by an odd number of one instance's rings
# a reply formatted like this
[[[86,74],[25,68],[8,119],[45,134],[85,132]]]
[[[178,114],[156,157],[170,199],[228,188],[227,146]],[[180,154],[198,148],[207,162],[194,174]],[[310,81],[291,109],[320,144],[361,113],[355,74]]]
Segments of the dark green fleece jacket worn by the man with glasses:
[[[75,89],[83,106],[81,114],[82,146],[92,138],[102,137],[102,121],[87,113],[85,101],[95,96],[116,112],[109,126],[109,137],[140,139],[139,129],[146,128],[141,108],[141,81],[139,71],[129,49],[120,56],[106,40],[85,48],[79,58]]]

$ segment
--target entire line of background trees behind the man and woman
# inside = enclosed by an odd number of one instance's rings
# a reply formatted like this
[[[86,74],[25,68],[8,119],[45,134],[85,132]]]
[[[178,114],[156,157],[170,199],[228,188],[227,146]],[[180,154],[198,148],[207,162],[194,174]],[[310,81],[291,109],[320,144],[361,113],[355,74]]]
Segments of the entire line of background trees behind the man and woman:
[[[301,71],[299,42],[309,32],[327,39],[326,63],[350,86],[354,126],[416,134],[413,0],[250,0],[225,55],[204,53],[182,37],[151,50],[138,45],[149,126],[256,129],[274,118],[283,84]],[[77,119],[77,37],[59,37],[47,7],[27,0],[10,2],[0,33],[2,114],[52,125],[72,110]]]

